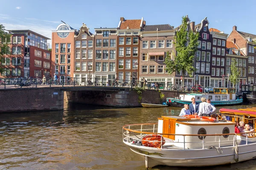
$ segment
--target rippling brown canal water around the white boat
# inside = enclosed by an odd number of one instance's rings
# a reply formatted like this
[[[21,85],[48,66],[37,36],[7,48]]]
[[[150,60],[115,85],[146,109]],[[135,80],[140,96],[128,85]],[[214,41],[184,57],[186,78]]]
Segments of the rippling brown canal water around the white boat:
[[[256,105],[230,106],[238,109]],[[181,108],[64,105],[64,111],[1,113],[0,170],[145,170],[144,157],[122,143],[122,126],[157,122]],[[217,109],[220,109],[217,107]],[[255,170],[256,160],[215,167],[153,170]]]

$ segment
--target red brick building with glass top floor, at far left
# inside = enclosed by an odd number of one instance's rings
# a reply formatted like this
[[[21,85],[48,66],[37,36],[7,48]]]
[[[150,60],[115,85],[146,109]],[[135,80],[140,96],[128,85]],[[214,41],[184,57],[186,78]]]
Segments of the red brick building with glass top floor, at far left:
[[[11,35],[9,54],[1,65],[5,72],[0,78],[50,76],[51,54],[47,50],[47,37],[31,30],[8,30]]]

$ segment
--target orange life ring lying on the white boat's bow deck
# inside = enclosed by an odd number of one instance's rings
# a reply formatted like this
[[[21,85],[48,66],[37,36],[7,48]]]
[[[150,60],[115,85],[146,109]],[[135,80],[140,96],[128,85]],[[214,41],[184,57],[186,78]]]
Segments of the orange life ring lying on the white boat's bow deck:
[[[162,140],[162,145],[165,144],[165,140],[161,135],[147,135],[143,137],[142,139],[142,144],[143,146],[147,147],[161,147],[161,140]]]

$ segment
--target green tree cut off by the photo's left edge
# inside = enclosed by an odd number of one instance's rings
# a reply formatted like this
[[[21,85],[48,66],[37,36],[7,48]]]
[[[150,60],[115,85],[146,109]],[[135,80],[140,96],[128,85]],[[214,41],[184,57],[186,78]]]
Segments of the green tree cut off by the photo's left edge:
[[[0,61],[3,61],[3,55],[9,54],[8,43],[10,42],[10,34],[7,34],[4,26],[0,23]],[[4,69],[0,65],[0,73],[3,73]]]

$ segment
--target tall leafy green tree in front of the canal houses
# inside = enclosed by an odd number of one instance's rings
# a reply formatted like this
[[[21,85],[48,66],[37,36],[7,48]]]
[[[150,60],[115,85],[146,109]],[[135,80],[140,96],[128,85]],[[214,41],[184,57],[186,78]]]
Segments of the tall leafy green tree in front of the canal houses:
[[[166,55],[164,61],[166,64],[166,71],[169,74],[181,71],[182,77],[184,77],[186,71],[190,77],[192,77],[193,73],[196,71],[196,68],[194,67],[194,58],[198,47],[199,33],[194,33],[192,30],[187,31],[188,21],[187,16],[182,17],[182,24],[174,36],[176,50],[174,60],[172,60],[172,57],[167,53],[168,55]],[[189,35],[187,33],[189,33]],[[184,85],[184,78],[182,79],[182,84]]]

